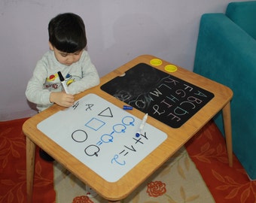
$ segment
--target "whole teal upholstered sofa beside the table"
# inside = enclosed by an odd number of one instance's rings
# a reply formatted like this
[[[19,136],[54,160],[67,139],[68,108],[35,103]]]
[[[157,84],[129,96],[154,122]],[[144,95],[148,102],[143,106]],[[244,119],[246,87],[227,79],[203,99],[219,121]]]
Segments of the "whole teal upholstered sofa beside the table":
[[[256,1],[231,2],[225,14],[203,14],[194,72],[233,90],[233,153],[256,180]],[[215,123],[224,134],[221,113]]]

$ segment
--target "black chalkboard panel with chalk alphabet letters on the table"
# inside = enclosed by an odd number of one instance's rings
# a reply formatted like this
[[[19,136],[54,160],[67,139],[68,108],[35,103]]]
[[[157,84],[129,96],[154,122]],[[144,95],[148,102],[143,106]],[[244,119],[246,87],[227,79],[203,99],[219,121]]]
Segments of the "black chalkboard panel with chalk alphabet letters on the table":
[[[214,97],[212,92],[145,63],[130,68],[101,89],[172,128],[182,126]]]

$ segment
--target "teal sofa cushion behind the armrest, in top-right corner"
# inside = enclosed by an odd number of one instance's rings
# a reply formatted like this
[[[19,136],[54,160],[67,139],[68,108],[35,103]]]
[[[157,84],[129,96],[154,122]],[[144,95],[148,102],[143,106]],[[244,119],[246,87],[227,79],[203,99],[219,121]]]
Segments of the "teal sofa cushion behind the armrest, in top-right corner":
[[[227,5],[226,15],[256,39],[256,1],[231,2]]]

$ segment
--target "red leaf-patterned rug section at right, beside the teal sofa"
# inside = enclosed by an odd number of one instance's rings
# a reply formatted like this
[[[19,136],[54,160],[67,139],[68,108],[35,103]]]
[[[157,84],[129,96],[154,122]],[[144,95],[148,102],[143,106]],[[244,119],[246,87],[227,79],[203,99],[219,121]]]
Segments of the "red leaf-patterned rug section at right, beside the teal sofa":
[[[213,121],[188,141],[186,149],[216,202],[256,203],[256,180],[250,181],[236,156],[233,167],[228,166],[226,144]]]

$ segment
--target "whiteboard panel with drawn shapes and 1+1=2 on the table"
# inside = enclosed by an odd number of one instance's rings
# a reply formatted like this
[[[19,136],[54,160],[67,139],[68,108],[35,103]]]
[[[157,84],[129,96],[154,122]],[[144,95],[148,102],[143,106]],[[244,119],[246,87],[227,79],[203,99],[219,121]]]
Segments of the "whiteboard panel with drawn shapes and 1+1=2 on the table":
[[[167,138],[148,123],[136,138],[141,122],[128,111],[89,94],[37,127],[96,174],[115,182]]]

